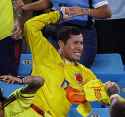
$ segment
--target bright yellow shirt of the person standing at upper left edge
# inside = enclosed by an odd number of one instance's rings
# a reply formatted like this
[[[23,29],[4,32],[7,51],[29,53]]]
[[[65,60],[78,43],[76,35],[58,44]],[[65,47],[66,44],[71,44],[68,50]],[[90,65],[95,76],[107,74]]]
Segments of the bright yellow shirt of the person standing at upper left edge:
[[[11,0],[0,0],[0,40],[10,36],[13,30],[13,8]]]

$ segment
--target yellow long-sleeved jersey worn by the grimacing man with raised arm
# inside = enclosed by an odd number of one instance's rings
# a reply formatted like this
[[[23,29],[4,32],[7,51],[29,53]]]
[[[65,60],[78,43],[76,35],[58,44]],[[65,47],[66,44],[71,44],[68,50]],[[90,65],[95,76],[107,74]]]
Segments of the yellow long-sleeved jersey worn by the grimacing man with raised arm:
[[[33,57],[32,75],[45,79],[45,84],[37,91],[33,103],[51,113],[52,117],[66,117],[70,108],[65,91],[61,87],[64,80],[73,88],[83,90],[75,79],[77,73],[81,74],[84,83],[96,79],[96,76],[83,65],[64,61],[43,36],[41,30],[48,24],[58,22],[59,18],[58,11],[49,12],[30,19],[24,28]]]

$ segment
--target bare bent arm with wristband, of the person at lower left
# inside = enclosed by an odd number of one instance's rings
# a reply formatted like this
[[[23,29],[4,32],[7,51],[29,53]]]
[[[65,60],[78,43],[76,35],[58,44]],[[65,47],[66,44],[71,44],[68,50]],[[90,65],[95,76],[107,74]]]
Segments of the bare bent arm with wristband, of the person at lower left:
[[[11,75],[3,75],[0,76],[0,80],[9,84],[17,83],[27,85],[21,90],[22,93],[36,92],[44,84],[44,80],[38,76],[27,76],[21,79]]]

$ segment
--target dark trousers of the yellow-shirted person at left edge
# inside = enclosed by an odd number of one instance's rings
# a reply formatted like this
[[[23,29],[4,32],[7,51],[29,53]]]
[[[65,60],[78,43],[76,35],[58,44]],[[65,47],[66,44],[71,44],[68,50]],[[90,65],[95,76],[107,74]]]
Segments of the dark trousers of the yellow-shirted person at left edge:
[[[11,37],[0,41],[0,74],[17,74],[15,42]]]

